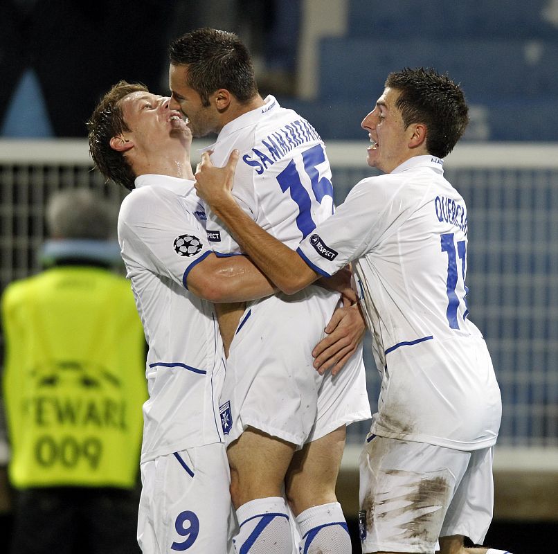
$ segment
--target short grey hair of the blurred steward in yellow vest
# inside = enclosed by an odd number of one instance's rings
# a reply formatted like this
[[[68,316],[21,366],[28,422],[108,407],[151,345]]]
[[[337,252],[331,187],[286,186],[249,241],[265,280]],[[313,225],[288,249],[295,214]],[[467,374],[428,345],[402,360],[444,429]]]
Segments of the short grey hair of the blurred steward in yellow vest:
[[[116,231],[116,211],[86,188],[58,190],[46,204],[46,227],[53,238],[111,240]]]

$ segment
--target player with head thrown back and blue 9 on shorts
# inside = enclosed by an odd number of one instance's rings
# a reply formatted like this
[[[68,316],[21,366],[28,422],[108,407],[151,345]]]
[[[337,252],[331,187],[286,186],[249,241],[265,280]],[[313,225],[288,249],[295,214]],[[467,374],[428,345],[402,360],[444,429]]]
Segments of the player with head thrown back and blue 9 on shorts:
[[[215,307],[201,298],[246,300],[274,289],[244,256],[211,251],[193,187],[192,134],[169,98],[120,82],[88,127],[98,169],[132,190],[118,238],[150,347],[138,542],[145,553],[223,554],[231,506],[217,408],[224,354]],[[358,321],[345,324],[361,333]],[[330,343],[342,335],[330,335],[324,354],[335,355]]]

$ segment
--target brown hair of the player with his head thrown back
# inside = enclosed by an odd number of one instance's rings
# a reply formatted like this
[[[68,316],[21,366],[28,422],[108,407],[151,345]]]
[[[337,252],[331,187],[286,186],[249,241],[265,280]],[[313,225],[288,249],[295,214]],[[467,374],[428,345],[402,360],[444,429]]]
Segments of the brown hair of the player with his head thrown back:
[[[112,179],[128,190],[134,188],[136,175],[122,152],[113,150],[110,140],[113,136],[129,131],[120,100],[133,92],[149,92],[141,83],[117,82],[103,96],[87,122],[89,152],[96,168],[107,180]]]

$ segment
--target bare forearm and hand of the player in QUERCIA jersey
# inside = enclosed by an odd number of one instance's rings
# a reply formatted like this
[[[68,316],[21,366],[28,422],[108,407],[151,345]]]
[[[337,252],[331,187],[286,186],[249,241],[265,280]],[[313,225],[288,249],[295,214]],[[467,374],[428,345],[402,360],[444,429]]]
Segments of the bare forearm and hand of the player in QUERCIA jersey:
[[[226,224],[246,252],[282,292],[294,294],[320,277],[298,254],[272,237],[237,205],[231,189],[239,152],[224,168],[215,168],[204,152],[196,172],[196,190]]]

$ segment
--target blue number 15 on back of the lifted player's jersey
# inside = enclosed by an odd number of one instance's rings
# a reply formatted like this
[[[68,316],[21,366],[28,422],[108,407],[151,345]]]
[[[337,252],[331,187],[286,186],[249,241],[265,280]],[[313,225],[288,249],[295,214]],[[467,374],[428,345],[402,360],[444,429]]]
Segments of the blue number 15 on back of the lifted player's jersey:
[[[320,179],[319,172],[316,169],[316,166],[324,161],[325,153],[321,144],[316,144],[316,146],[312,146],[312,148],[303,152],[304,170],[306,175],[310,178],[312,191],[318,202],[321,202],[325,196],[333,198],[332,181],[327,179],[327,177],[322,177]],[[294,160],[289,161],[289,165],[280,172],[277,176],[277,180],[281,190],[284,193],[288,190],[291,198],[298,206],[296,226],[300,230],[300,233],[303,233],[303,238],[305,238],[305,236],[316,229],[316,224],[312,219],[312,199],[302,181],[300,181],[300,175],[298,175]]]

